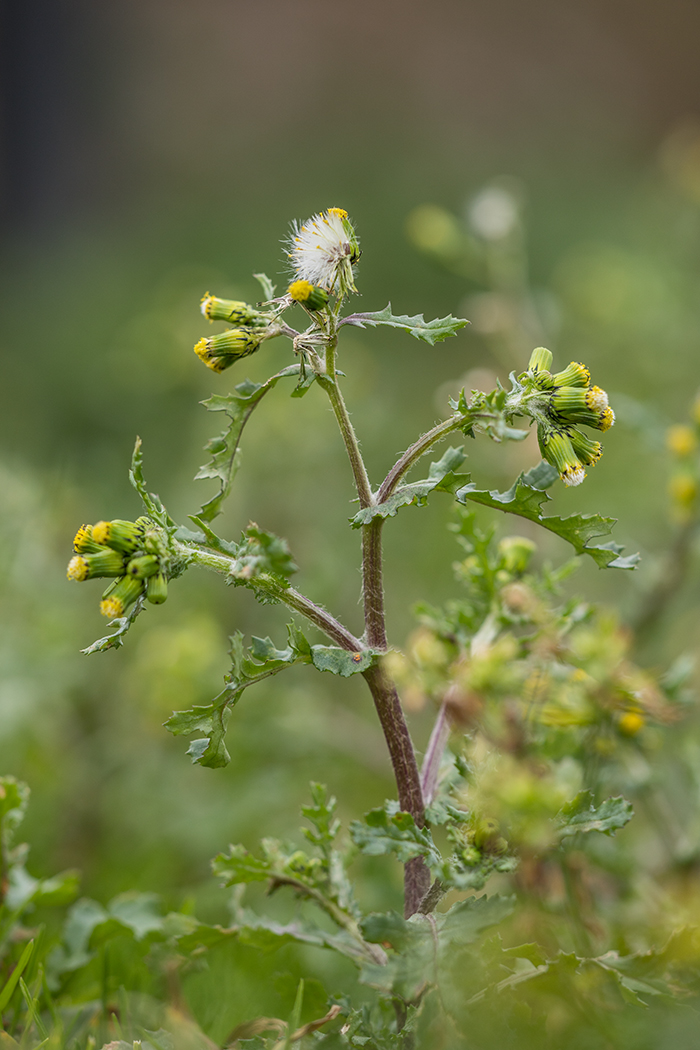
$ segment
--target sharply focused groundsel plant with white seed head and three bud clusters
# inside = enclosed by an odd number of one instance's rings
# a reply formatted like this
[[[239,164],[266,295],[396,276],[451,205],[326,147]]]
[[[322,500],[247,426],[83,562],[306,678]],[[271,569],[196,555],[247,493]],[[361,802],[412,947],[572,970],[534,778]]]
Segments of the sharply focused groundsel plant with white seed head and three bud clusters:
[[[451,315],[426,321],[422,315],[396,316],[390,307],[374,313],[347,313],[343,307],[355,289],[355,270],[360,250],[355,230],[341,208],[328,208],[302,224],[295,224],[289,243],[289,258],[294,279],[287,292],[275,295],[264,275],[256,275],[267,293],[260,306],[218,298],[209,292],[203,297],[201,312],[210,321],[230,322],[218,334],[203,337],[195,345],[197,357],[212,371],[220,373],[240,358],[258,352],[268,339],[284,336],[291,340],[296,362],[271,376],[267,382],[241,382],[228,396],[214,395],[208,407],[224,412],[230,420],[225,433],[209,443],[211,463],[198,477],[216,479],[218,492],[201,508],[193,521],[197,531],[182,528],[172,521],[157,497],[146,489],[142,472],[141,444],[137,441],[131,479],[141,494],[145,517],[134,522],[98,522],[82,525],[75,539],[75,555],[68,565],[73,581],[92,578],[110,580],[102,594],[101,611],[114,622],[115,631],[100,639],[87,651],[120,645],[146,601],[162,603],[168,582],[187,568],[199,565],[221,573],[228,583],[251,587],[261,601],[282,602],[295,613],[320,628],[331,647],[310,647],[301,636],[291,635],[295,659],[306,658],[317,667],[327,664],[336,673],[361,673],[372,692],[394,765],[402,812],[411,815],[418,827],[425,823],[425,807],[413,747],[396,686],[382,659],[389,643],[384,616],[382,580],[382,530],[387,518],[403,505],[425,502],[433,489],[451,491],[458,503],[469,500],[487,503],[540,521],[546,528],[568,539],[577,552],[587,552],[600,565],[631,567],[634,560],[620,558],[615,544],[595,545],[592,537],[604,534],[611,522],[593,519],[581,526],[575,519],[546,518],[542,504],[548,499],[546,487],[555,477],[566,485],[577,485],[586,476],[585,467],[600,457],[601,446],[577,427],[586,425],[608,429],[614,420],[607,395],[590,386],[588,369],[572,362],[563,372],[552,373],[551,353],[537,348],[528,368],[519,376],[511,375],[509,391],[499,386],[490,393],[463,391],[451,402],[452,413],[418,440],[398,459],[379,486],[370,482],[360,453],[340,387],[337,369],[339,338],[347,326],[365,328],[386,326],[403,329],[417,339],[434,344],[453,336],[467,321]],[[301,308],[307,326],[292,328],[287,315]],[[262,398],[283,378],[296,379],[294,394],[300,396],[316,382],[327,395],[345,445],[353,471],[360,509],[351,524],[362,532],[362,580],[364,628],[358,635],[290,585],[295,566],[287,543],[251,525],[240,543],[225,540],[212,530],[211,522],[219,512],[235,476],[243,426]],[[458,472],[465,456],[450,448],[433,463],[424,481],[406,482],[410,468],[433,445],[452,433],[468,437],[485,434],[495,441],[521,440],[527,432],[515,428],[514,417],[529,418],[537,427],[544,461],[530,475],[522,476],[508,494],[480,491],[468,475]],[[296,628],[295,628],[296,631]],[[319,648],[324,652],[320,653]],[[255,651],[252,658],[255,659]],[[267,654],[266,654],[267,655]],[[249,657],[250,658],[250,657]],[[274,656],[274,672],[291,657]],[[269,663],[269,660],[268,660]],[[272,670],[272,669],[271,669]],[[225,719],[251,681],[266,677],[267,669],[234,673],[224,698],[211,712],[211,733],[195,740],[190,753],[204,764],[222,764]],[[172,732],[186,732],[189,724],[173,716]],[[193,724],[194,728],[194,724]],[[429,889],[429,873],[419,860],[406,864],[405,909],[412,915]]]

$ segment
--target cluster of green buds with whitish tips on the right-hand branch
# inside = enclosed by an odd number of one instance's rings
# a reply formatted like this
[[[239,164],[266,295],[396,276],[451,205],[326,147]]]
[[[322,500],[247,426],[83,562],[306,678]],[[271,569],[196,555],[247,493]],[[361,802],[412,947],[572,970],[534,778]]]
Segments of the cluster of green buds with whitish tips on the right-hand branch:
[[[537,439],[544,458],[559,472],[565,485],[580,485],[585,467],[593,466],[602,455],[602,445],[577,426],[608,430],[615,413],[608,395],[591,386],[591,374],[585,364],[572,361],[564,372],[552,374],[552,354],[544,346],[533,350],[528,371],[534,397],[528,398],[529,411],[537,423]]]

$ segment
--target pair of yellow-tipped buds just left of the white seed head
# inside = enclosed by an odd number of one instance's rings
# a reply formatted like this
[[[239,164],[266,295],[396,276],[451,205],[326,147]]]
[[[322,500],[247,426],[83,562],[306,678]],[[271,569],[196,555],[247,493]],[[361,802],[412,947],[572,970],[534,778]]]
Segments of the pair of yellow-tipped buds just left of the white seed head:
[[[201,299],[201,313],[210,321],[228,321],[235,328],[201,338],[194,346],[200,361],[213,372],[224,372],[235,361],[254,354],[264,339],[279,335],[273,313],[236,299],[218,299],[209,292]]]

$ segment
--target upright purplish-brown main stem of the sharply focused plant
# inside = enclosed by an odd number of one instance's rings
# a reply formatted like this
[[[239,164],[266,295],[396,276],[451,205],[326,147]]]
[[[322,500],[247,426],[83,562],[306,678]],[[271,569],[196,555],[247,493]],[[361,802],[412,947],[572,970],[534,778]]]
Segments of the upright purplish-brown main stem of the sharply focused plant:
[[[336,416],[353,469],[360,506],[375,506],[375,497],[362,459],[360,445],[338,385],[335,369],[337,332],[332,332],[325,354],[325,374],[319,382],[325,390]],[[364,642],[378,652],[388,648],[384,586],[382,581],[382,518],[373,518],[362,526],[362,593],[364,602]],[[413,743],[408,732],[399,694],[381,663],[363,673],[372,693],[379,721],[388,748],[402,810],[410,813],[419,827],[425,823],[425,806]],[[417,857],[404,868],[404,915],[418,911],[430,885],[430,875],[424,861]]]

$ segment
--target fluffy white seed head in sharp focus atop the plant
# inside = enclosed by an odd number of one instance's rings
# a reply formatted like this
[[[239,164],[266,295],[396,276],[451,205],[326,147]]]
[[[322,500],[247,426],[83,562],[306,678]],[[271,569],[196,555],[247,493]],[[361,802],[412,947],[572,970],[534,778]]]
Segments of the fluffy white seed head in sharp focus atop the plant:
[[[345,295],[357,291],[353,267],[360,257],[353,224],[342,208],[328,208],[294,225],[290,259],[299,280]]]

